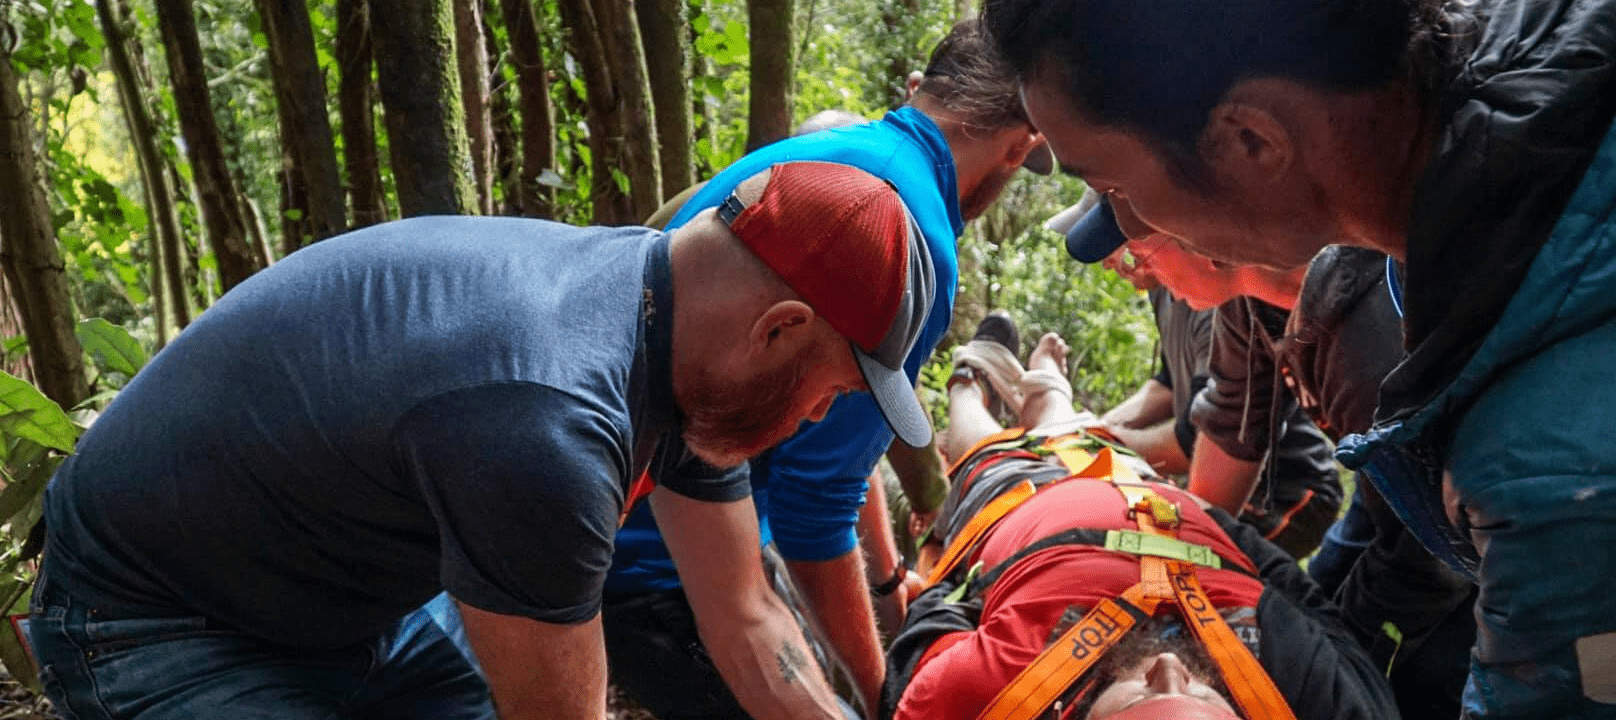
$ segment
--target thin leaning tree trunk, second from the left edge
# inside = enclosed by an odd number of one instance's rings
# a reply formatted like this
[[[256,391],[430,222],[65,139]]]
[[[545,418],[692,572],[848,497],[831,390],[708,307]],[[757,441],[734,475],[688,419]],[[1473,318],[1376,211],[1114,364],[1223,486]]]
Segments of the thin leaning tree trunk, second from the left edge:
[[[95,0],[95,13],[102,23],[102,36],[107,39],[107,57],[112,60],[112,71],[118,81],[123,115],[129,123],[129,142],[134,144],[136,165],[141,170],[149,215],[155,228],[152,239],[152,308],[158,323],[157,342],[163,345],[168,342],[165,318],[170,316],[170,312],[175,331],[191,323],[184,276],[179,270],[179,218],[175,215],[175,195],[168,186],[163,157],[157,149],[157,123],[152,121],[152,111],[141,92],[141,79],[136,76],[134,60],[129,57],[123,24],[113,15],[110,0]]]

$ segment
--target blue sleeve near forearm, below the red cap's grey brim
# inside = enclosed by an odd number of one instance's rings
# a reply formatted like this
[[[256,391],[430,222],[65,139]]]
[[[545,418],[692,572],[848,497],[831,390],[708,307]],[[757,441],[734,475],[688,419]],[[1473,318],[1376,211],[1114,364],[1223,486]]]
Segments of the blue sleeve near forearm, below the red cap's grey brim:
[[[787,560],[829,560],[858,544],[858,509],[892,429],[868,392],[844,396],[753,467],[769,488],[769,525]],[[758,483],[760,486],[764,483]]]

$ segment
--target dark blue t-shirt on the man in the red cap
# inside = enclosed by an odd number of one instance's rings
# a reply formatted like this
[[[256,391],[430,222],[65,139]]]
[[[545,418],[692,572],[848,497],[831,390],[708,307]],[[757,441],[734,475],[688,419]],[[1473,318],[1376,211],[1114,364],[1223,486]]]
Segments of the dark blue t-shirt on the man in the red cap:
[[[514,218],[299,250],[84,434],[47,492],[53,578],[299,646],[367,638],[440,589],[587,620],[640,468],[748,492],[677,439],[667,273],[661,232]]]

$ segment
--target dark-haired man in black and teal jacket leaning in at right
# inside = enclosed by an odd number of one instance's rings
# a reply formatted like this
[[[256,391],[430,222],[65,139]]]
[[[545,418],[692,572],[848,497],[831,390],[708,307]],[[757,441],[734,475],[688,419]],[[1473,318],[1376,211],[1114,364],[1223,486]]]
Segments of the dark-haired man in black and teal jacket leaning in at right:
[[[989,0],[1055,157],[1222,262],[1401,263],[1340,457],[1480,588],[1466,717],[1616,718],[1616,3]]]

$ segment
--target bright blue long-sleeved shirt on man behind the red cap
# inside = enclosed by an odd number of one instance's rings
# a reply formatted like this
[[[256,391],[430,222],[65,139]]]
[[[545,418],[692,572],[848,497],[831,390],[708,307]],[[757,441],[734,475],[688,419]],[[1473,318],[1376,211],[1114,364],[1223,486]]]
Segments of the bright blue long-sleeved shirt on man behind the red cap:
[[[724,202],[740,181],[772,165],[802,160],[845,163],[890,181],[920,223],[937,268],[937,297],[903,363],[910,379],[916,379],[953,320],[960,274],[955,241],[965,231],[953,153],[937,124],[920,110],[898,108],[876,123],[761,147],[713,178],[674,215],[669,229]],[[852,550],[858,544],[855,526],[866,481],[892,437],[874,399],[858,392],[835,400],[823,421],[753,460],[753,500],[764,541],[772,536],[787,560],[829,560]],[[679,576],[654,518],[640,507],[617,533],[606,591],[637,594],[671,588],[679,588]]]

